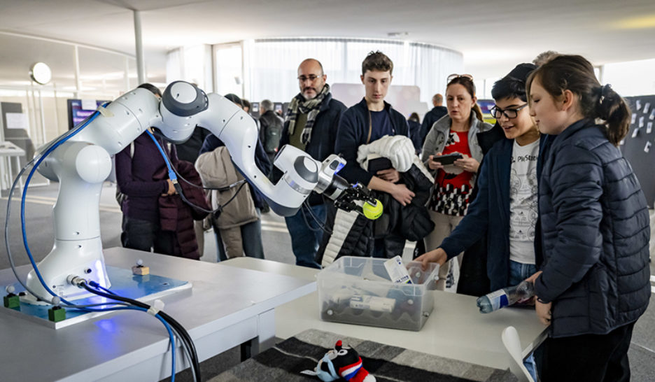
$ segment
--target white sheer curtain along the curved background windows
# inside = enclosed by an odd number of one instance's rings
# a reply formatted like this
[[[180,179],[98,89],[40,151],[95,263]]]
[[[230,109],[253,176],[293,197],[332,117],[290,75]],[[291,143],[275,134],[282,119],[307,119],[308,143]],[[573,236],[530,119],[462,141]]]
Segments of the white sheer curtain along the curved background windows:
[[[464,67],[460,52],[423,43],[352,38],[249,40],[214,45],[214,90],[220,94],[233,92],[255,102],[288,102],[299,92],[297,68],[303,59],[318,59],[327,83],[360,83],[362,60],[374,50],[393,61],[393,85],[418,86],[421,101],[429,105],[433,94],[446,90],[446,77],[461,73]],[[189,61],[177,56],[180,54],[185,56],[186,50],[169,52],[168,81],[173,79],[169,73],[174,75],[175,69],[179,73],[187,71],[184,66]]]

